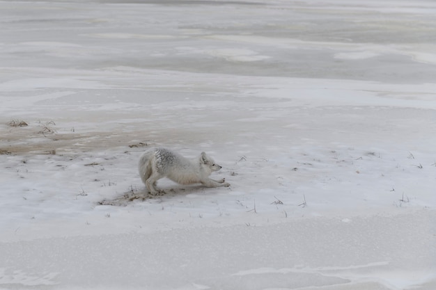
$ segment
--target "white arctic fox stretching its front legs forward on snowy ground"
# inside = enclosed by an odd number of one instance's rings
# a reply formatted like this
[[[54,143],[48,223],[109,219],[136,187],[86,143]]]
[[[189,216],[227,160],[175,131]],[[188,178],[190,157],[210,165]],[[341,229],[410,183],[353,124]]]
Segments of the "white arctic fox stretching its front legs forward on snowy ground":
[[[213,180],[209,175],[221,169],[212,158],[201,152],[194,159],[187,159],[182,155],[166,148],[147,150],[139,159],[139,175],[151,194],[157,195],[156,182],[167,177],[179,184],[201,183],[207,187],[230,186],[225,179]]]

